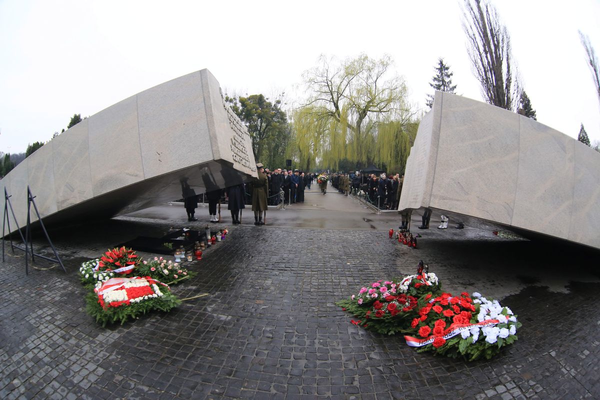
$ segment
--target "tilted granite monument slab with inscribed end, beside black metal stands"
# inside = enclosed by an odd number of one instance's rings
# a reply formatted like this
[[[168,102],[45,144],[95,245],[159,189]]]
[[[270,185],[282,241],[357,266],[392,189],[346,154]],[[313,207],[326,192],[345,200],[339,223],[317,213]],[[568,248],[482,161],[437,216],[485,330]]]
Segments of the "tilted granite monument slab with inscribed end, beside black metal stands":
[[[74,125],[1,179],[0,191],[7,189],[22,227],[28,185],[44,223],[53,223],[127,213],[181,199],[184,186],[200,194],[256,176],[248,131],[201,70]]]

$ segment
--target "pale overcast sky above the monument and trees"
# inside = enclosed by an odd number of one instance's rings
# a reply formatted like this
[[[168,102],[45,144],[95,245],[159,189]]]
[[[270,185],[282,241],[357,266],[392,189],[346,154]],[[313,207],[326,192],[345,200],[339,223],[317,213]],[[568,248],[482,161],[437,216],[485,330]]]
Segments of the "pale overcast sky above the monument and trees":
[[[457,93],[482,100],[462,1],[0,0],[0,151],[46,142],[90,116],[208,68],[230,93],[293,96],[320,54],[385,53],[425,107],[437,59]],[[578,29],[600,52],[600,1],[495,0],[538,121],[600,140],[600,105]],[[293,101],[293,98],[289,99]]]

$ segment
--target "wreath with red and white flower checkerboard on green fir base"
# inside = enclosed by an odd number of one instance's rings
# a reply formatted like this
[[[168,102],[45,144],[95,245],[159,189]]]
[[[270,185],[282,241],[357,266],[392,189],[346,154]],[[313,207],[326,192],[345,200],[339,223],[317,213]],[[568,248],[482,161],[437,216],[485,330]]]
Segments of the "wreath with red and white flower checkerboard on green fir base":
[[[86,296],[86,311],[102,326],[158,309],[169,311],[181,303],[170,293],[169,286],[150,276],[110,278],[98,282],[94,291]]]

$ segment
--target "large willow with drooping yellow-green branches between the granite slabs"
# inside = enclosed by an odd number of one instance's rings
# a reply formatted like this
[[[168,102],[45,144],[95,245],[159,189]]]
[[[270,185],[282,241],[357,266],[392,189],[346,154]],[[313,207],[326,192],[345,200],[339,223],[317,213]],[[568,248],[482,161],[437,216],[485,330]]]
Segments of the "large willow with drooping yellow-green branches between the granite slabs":
[[[308,100],[298,111],[302,118],[295,119],[301,153],[312,152],[310,157],[334,168],[343,158],[392,162],[376,154],[379,127],[408,124],[413,112],[406,83],[392,71],[389,56],[375,60],[362,54],[343,62],[321,56],[304,81]]]

